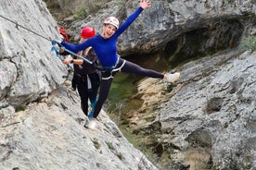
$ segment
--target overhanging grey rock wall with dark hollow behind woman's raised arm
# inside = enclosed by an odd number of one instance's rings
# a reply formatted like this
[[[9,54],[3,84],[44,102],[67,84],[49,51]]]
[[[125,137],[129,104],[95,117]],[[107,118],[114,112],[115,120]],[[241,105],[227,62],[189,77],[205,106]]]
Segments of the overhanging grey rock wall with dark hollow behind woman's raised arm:
[[[84,26],[93,26],[100,32],[104,18],[116,16],[122,23],[137,7],[137,1],[105,2],[96,14],[74,21],[69,32],[76,40]],[[255,19],[253,15],[255,2],[250,0],[154,1],[122,33],[118,43],[119,53],[130,55],[165,50],[169,56],[173,56],[184,48],[186,54],[182,55],[189,56],[189,52],[209,53],[219,48],[236,46],[243,30]],[[191,47],[191,44],[187,44],[189,37],[193,38],[192,42],[198,41],[198,45],[193,44]]]

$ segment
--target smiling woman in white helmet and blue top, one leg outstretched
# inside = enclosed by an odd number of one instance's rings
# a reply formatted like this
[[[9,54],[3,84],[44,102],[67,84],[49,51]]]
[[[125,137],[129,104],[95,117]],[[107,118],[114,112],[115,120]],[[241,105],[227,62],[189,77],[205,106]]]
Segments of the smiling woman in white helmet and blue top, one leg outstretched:
[[[102,79],[98,100],[93,113],[94,118],[90,121],[88,128],[96,127],[96,117],[99,114],[103,103],[107,100],[110,85],[116,72],[121,71],[142,77],[166,79],[172,83],[180,77],[180,73],[178,72],[174,74],[162,74],[154,70],[139,67],[132,62],[122,59],[117,54],[118,37],[133,23],[134,19],[137,18],[144,9],[151,6],[151,3],[149,0],[140,0],[139,5],[140,6],[137,10],[135,10],[135,12],[128,17],[120,27],[119,20],[117,18],[109,17],[104,21],[103,31],[100,34],[96,34],[95,37],[88,39],[86,42],[78,45],[73,45],[65,41],[60,42],[65,48],[75,53],[92,46],[95,49],[99,64],[102,67]]]

